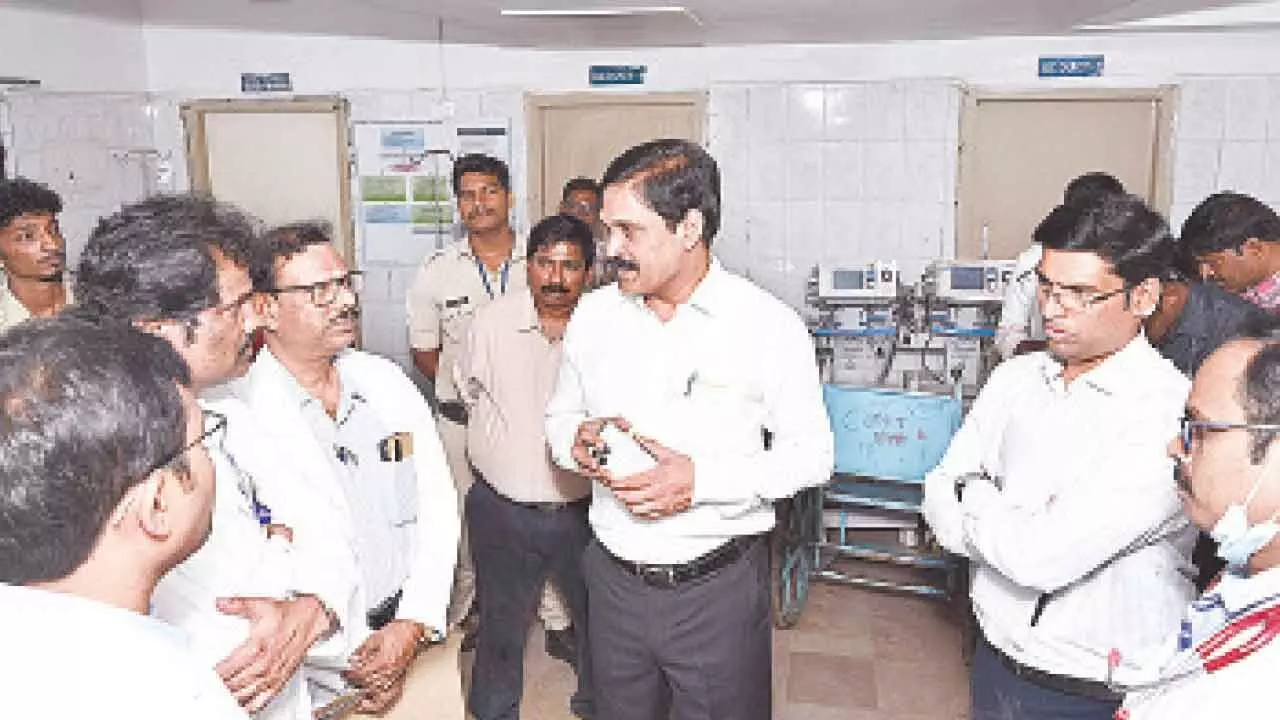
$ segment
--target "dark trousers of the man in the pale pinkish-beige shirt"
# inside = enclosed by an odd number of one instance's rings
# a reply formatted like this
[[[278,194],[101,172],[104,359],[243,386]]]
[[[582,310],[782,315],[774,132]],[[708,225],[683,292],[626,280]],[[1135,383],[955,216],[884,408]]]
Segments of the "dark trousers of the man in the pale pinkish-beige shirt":
[[[564,597],[579,637],[589,628],[581,566],[591,539],[588,505],[525,507],[479,478],[466,503],[480,609],[467,705],[476,720],[515,720],[525,687],[525,641],[547,575]],[[590,653],[585,642],[577,646],[577,692],[570,707],[593,717]]]

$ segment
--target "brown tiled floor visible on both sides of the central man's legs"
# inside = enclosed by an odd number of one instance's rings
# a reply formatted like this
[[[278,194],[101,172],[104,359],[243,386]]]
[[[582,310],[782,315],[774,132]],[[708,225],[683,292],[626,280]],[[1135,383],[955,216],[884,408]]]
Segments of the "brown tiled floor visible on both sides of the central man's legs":
[[[959,720],[968,670],[951,611],[932,601],[814,585],[800,623],[773,633],[776,720]],[[573,674],[530,635],[529,720],[570,720]]]

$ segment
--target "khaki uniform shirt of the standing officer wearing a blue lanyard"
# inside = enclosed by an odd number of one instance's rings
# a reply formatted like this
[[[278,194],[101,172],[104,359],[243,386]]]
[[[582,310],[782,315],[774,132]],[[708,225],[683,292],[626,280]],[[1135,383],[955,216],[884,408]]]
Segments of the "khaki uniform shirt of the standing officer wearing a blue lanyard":
[[[516,238],[506,273],[483,272],[462,238],[422,260],[413,286],[408,290],[408,345],[413,350],[440,351],[435,374],[435,398],[460,398],[453,386],[453,365],[458,361],[467,325],[475,311],[497,297],[529,287],[525,269],[525,243]],[[503,278],[506,274],[506,279]]]

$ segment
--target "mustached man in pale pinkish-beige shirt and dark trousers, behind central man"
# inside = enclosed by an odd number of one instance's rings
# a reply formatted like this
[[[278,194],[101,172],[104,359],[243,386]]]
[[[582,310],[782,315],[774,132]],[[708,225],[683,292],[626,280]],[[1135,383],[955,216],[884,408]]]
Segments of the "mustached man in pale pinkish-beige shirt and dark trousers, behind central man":
[[[559,370],[561,338],[590,278],[591,229],[553,215],[529,233],[529,291],[481,307],[471,323],[457,387],[471,410],[467,454],[476,482],[466,500],[480,628],[468,706],[476,720],[520,717],[525,639],[544,578],[559,588],[573,626],[586,630],[582,550],[590,480],[557,468],[543,416]],[[590,662],[579,643],[570,707],[591,717]]]

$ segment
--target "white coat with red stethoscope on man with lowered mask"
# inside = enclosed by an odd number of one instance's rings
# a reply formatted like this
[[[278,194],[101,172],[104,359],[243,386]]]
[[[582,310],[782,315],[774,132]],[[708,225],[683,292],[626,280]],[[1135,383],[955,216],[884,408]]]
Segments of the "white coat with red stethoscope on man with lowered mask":
[[[1276,605],[1280,594],[1280,568],[1260,573],[1252,578],[1226,577],[1219,587],[1193,603],[1187,614],[1194,646],[1203,643],[1224,625],[1228,616],[1239,619],[1254,602]],[[1271,598],[1267,601],[1267,598]],[[1243,612],[1242,612],[1243,611]],[[1253,637],[1258,626],[1242,629],[1239,642]],[[1229,643],[1226,648],[1233,647]],[[1280,678],[1280,639],[1271,641],[1252,655],[1215,673],[1183,675],[1187,669],[1199,666],[1193,650],[1176,651],[1176,638],[1170,638],[1165,652],[1152,662],[1153,671],[1137,682],[1143,689],[1125,697],[1117,717],[1126,720],[1204,720],[1206,717],[1231,717],[1251,720],[1280,715],[1272,692]],[[1216,655],[1220,655],[1219,651]]]

